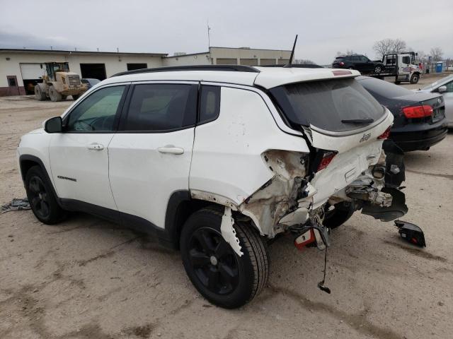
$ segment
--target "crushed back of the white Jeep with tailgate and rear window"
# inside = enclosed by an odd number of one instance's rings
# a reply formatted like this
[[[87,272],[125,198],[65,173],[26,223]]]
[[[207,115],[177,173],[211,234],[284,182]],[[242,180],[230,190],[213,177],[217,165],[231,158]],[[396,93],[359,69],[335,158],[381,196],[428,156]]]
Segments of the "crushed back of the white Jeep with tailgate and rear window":
[[[321,229],[335,228],[355,210],[382,221],[407,212],[398,189],[405,179],[403,152],[387,139],[391,113],[355,81],[357,74],[332,73],[332,78],[269,90],[280,114],[303,133],[310,150],[299,159],[304,176],[291,178],[297,188],[290,191],[297,193],[289,194],[285,213],[276,210],[282,217],[277,224],[300,225],[303,215]],[[265,158],[288,162],[272,153]]]

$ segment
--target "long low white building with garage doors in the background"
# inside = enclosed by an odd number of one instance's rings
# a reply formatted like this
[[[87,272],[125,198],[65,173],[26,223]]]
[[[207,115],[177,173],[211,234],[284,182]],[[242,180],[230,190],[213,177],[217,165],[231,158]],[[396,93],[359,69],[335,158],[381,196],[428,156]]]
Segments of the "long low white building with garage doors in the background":
[[[168,57],[164,53],[82,52],[42,49],[0,49],[0,96],[34,94],[45,62],[67,62],[81,78],[103,80],[133,69],[163,66],[286,64],[291,51],[248,47],[210,47],[208,52]]]

